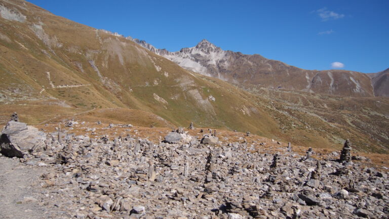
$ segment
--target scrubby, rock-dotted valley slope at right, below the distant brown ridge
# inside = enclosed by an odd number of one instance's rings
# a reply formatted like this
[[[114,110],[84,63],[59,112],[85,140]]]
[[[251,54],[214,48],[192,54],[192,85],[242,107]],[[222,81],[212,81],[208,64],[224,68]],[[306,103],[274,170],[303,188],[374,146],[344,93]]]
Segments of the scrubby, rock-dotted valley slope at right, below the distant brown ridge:
[[[387,153],[389,145],[389,99],[342,97],[281,89],[248,89],[268,113],[280,121],[280,136],[292,142],[310,142],[322,148],[352,139],[365,152]],[[254,98],[253,98],[254,99]],[[300,133],[300,134],[298,134]]]

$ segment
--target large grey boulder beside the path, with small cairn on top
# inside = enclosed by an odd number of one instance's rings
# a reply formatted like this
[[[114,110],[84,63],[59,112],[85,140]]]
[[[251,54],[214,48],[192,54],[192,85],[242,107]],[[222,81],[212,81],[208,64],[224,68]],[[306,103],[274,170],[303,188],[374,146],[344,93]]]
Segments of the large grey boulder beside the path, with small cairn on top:
[[[0,136],[0,152],[7,157],[23,157],[45,145],[46,134],[25,123],[10,121]]]

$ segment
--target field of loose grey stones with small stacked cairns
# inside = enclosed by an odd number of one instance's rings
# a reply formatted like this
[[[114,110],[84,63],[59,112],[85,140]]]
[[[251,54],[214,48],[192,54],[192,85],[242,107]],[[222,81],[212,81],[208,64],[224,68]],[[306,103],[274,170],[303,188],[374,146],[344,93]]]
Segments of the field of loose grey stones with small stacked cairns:
[[[58,218],[389,217],[387,172],[343,165],[349,143],[339,162],[290,147],[271,156],[258,142],[209,143],[217,137],[182,128],[160,142],[59,132],[20,158],[47,169],[34,198]]]

